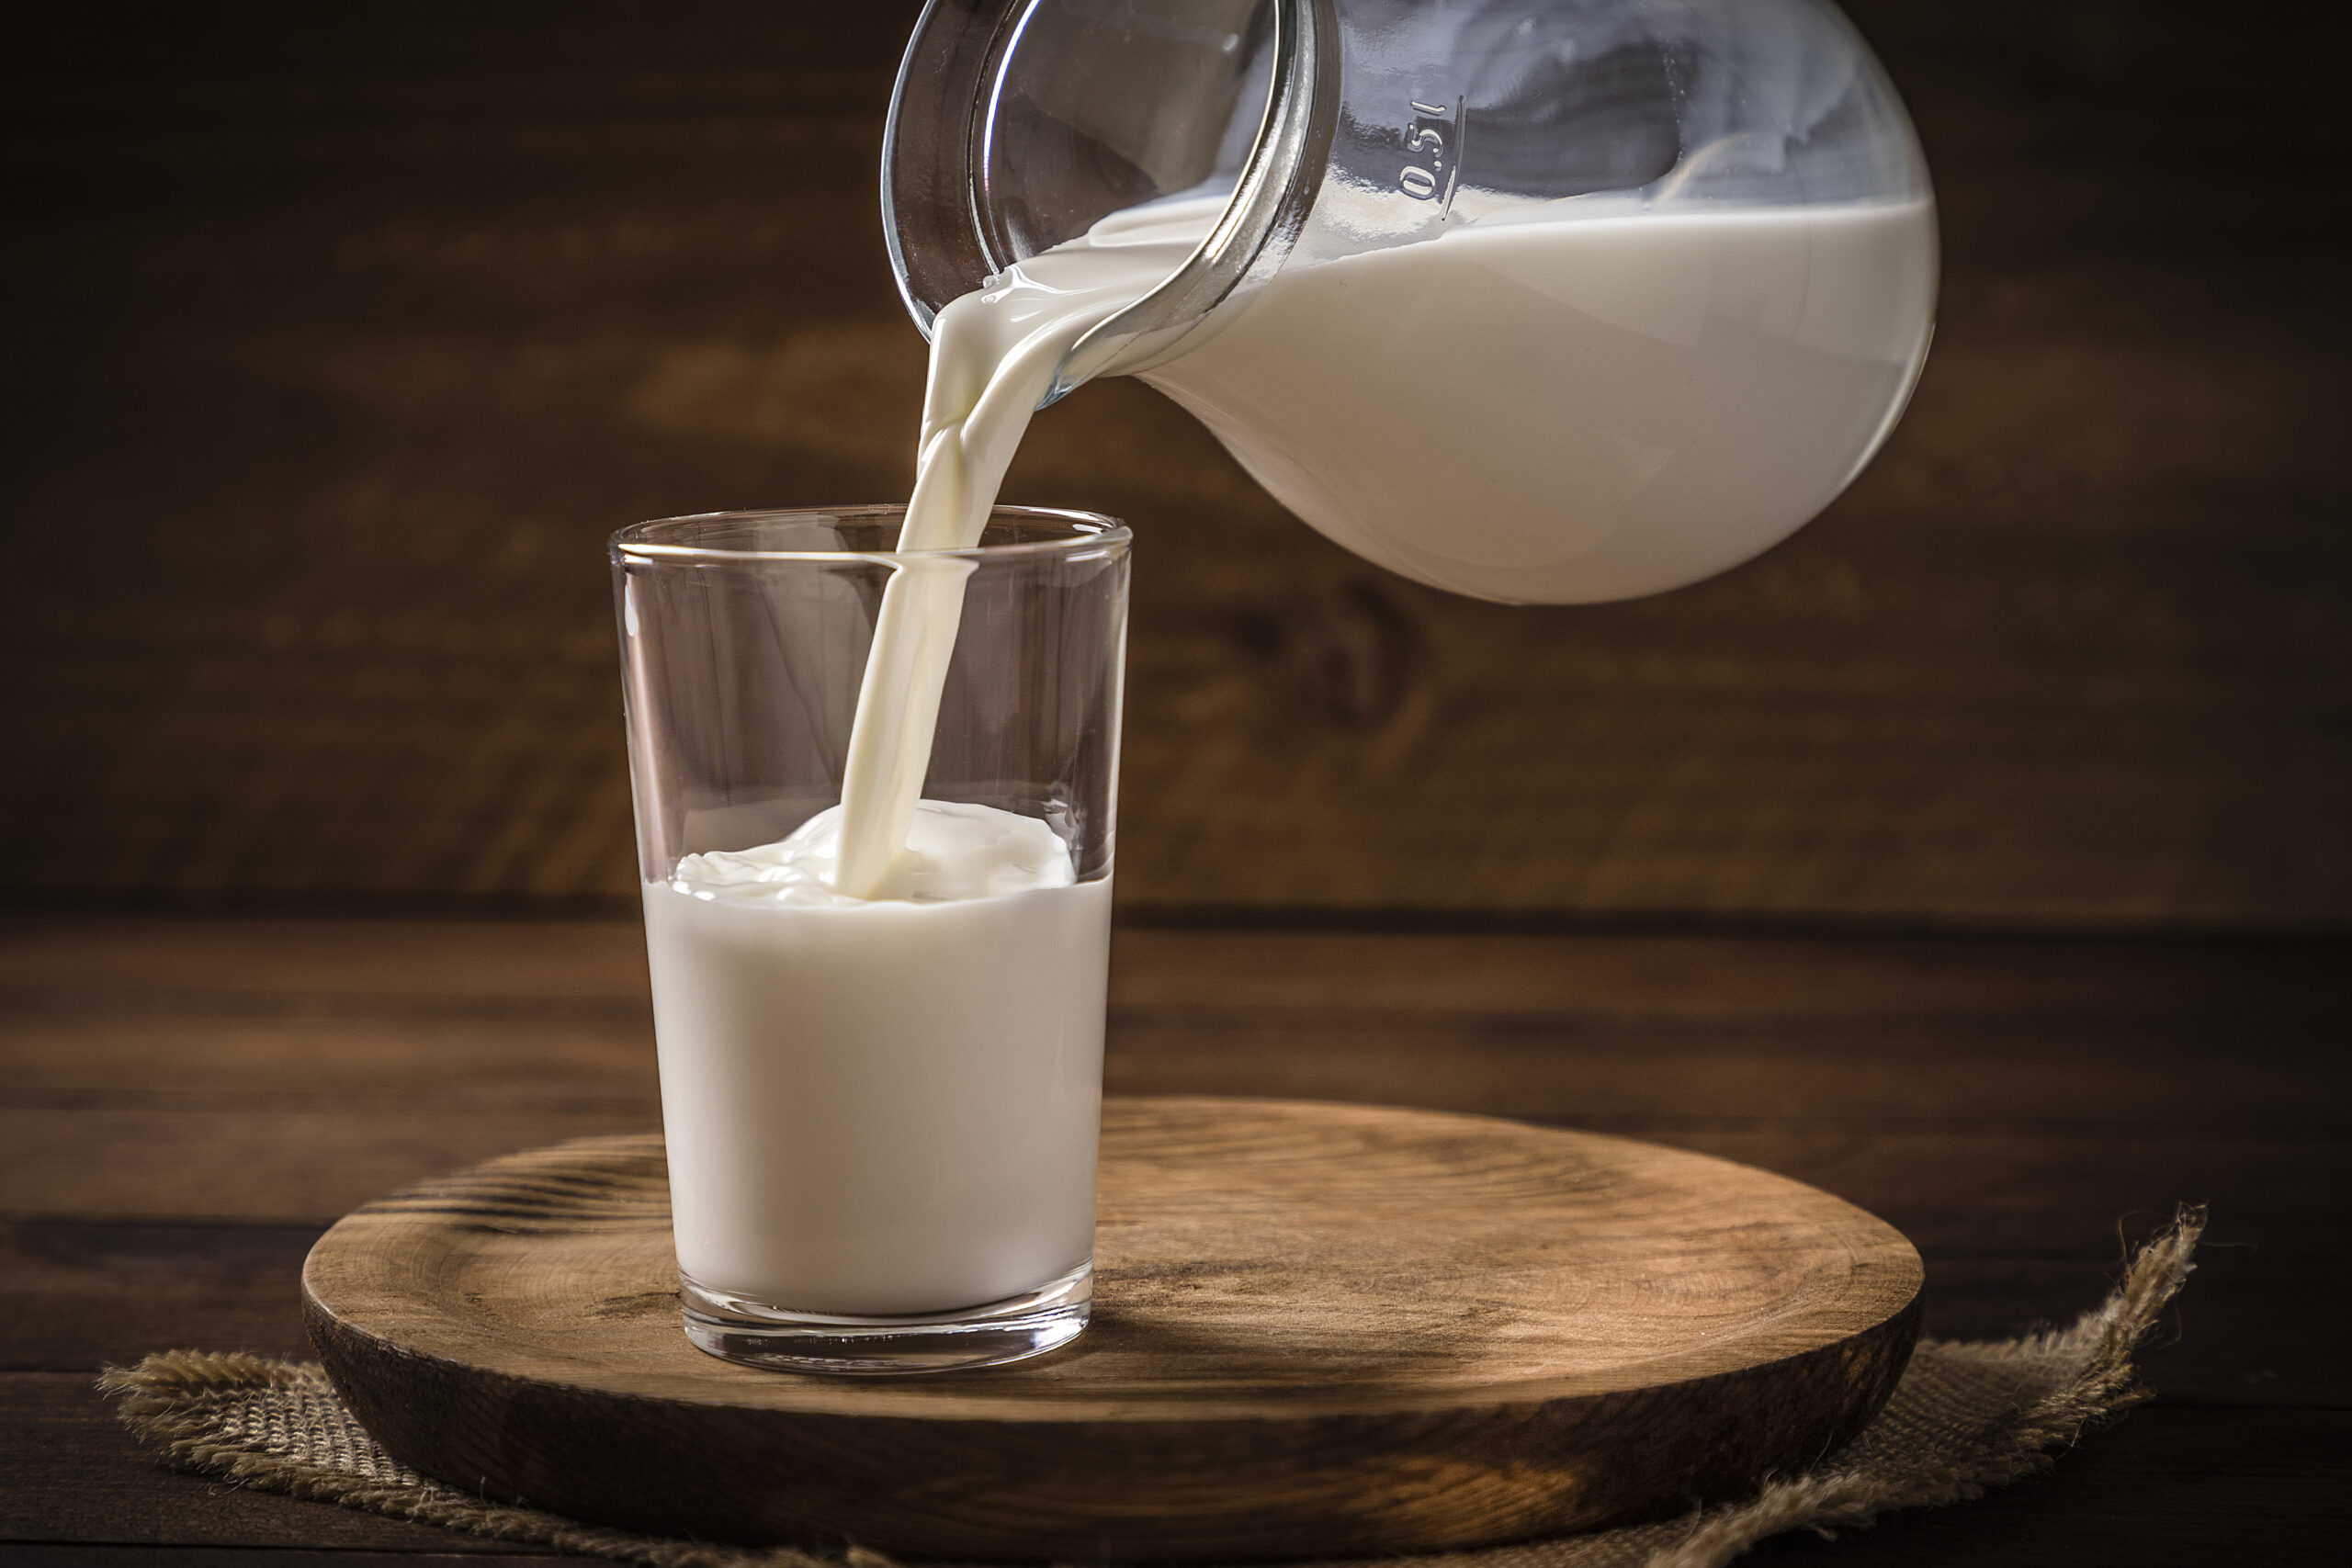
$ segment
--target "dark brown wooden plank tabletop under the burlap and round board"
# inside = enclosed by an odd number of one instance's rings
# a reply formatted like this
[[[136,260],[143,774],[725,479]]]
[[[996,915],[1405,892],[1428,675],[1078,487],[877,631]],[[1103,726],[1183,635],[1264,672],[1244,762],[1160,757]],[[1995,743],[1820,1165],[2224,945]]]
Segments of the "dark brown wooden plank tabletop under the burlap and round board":
[[[1757,1556],[2310,1561],[2352,1523],[2343,943],[1129,929],[1110,1088],[1496,1112],[1853,1199],[2002,1335],[2213,1208],[2161,1399],[2044,1479]],[[151,1349],[306,1354],[303,1251],[386,1187],[656,1124],[630,922],[0,926],[0,1559],[414,1563],[492,1542],[160,1469]],[[266,1556],[263,1556],[266,1552]]]

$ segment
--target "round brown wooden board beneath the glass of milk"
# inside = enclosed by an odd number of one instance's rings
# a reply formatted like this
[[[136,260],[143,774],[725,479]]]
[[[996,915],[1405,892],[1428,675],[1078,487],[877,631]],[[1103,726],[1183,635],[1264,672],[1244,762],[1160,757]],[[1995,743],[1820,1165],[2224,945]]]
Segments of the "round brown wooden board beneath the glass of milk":
[[[659,1135],[369,1204],[303,1267],[369,1432],[647,1533],[953,1559],[1435,1552],[1722,1497],[1853,1436],[1919,1255],[1802,1182],[1625,1138],[1289,1100],[1108,1100],[1094,1326],[934,1378],[680,1331]]]

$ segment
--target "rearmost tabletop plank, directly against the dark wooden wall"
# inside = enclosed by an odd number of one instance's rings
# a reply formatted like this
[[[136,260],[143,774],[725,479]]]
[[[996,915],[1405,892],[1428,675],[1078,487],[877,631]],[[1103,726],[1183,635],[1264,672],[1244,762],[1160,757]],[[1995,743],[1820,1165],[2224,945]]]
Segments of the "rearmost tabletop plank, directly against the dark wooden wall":
[[[1122,1009],[2340,1020],[2345,943],[1122,929]],[[9,1013],[642,1018],[635,919],[9,919]],[[470,1004],[480,1004],[468,1011]]]

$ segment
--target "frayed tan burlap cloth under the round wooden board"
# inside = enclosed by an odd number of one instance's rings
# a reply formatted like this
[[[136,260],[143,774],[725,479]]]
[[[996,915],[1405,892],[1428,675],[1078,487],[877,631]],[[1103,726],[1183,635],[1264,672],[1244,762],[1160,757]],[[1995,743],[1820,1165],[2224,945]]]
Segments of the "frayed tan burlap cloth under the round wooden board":
[[[2072,1328],[1990,1345],[1922,1340],[1863,1436],[1802,1476],[1764,1481],[1745,1502],[1623,1530],[1383,1559],[1383,1568],[1715,1568],[1780,1530],[1835,1535],[1886,1509],[1980,1497],[2049,1467],[2051,1450],[2084,1427],[2154,1396],[2131,1356],[2187,1281],[2201,1229],[2204,1213],[2183,1208],[2131,1258],[2114,1295]],[[108,1368],[99,1387],[120,1396],[122,1420],[162,1443],[172,1467],[254,1490],[649,1568],[840,1568],[795,1549],[604,1530],[428,1481],[383,1453],[310,1363],[174,1349]],[[858,1549],[847,1561],[889,1563]]]

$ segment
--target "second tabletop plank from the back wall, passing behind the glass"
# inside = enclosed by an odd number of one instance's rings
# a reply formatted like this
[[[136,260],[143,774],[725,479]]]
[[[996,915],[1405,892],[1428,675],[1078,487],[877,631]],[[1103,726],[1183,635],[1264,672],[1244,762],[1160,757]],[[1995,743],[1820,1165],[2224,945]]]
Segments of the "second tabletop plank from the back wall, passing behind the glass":
[[[2183,1039],[2187,1034],[2187,1039]],[[1122,1093],[1279,1093],[1522,1117],[2324,1131],[2343,1114],[2333,1034],[2244,1034],[2213,1060],[2194,1027],[2131,1020],[1703,1020],[1117,1009]],[[541,1105],[652,1117],[644,1025],[473,1020],[35,1018],[9,1027],[0,1105],[334,1110]]]

